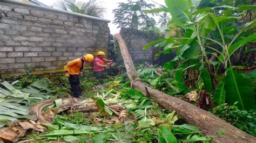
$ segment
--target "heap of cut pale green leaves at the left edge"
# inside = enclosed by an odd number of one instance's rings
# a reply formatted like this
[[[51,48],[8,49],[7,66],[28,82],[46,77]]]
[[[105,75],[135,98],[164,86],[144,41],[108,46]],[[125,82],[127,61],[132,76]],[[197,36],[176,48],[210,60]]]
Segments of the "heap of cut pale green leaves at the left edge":
[[[18,90],[13,85],[17,83],[2,82],[0,88],[0,127],[11,125],[19,119],[35,120],[29,115],[28,105],[48,99],[50,90],[48,78],[38,80],[28,87]],[[7,120],[7,121],[6,121]]]

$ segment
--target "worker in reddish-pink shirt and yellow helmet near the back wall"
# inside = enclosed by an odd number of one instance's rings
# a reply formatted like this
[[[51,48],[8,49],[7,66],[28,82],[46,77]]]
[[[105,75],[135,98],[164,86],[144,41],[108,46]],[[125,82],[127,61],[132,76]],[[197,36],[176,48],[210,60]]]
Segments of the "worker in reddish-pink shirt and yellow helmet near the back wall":
[[[103,84],[103,74],[102,71],[104,70],[104,67],[109,67],[112,60],[107,60],[104,58],[105,53],[102,51],[99,51],[97,53],[97,58],[93,60],[93,70],[95,72],[96,79],[99,81],[100,84]],[[108,65],[104,65],[104,62],[109,62]]]

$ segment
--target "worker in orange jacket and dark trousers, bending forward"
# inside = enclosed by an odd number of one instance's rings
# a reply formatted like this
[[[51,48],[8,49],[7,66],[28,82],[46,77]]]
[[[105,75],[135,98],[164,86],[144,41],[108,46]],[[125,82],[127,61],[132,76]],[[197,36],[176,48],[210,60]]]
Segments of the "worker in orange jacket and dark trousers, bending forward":
[[[71,91],[73,92],[73,96],[76,98],[82,96],[79,76],[82,75],[84,63],[91,62],[93,59],[94,58],[92,54],[86,54],[82,58],[72,60],[64,66],[65,76],[69,78]]]

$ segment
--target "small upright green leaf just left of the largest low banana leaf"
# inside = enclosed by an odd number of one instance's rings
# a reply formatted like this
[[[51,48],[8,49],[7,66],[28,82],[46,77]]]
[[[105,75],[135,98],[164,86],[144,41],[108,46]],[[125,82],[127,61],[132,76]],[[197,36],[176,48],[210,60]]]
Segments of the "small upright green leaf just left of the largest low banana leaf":
[[[219,106],[219,105],[222,105],[225,103],[225,98],[226,98],[226,91],[225,91],[225,88],[224,88],[224,82],[221,82],[214,95],[212,96],[212,99],[213,99],[213,103],[215,106]]]

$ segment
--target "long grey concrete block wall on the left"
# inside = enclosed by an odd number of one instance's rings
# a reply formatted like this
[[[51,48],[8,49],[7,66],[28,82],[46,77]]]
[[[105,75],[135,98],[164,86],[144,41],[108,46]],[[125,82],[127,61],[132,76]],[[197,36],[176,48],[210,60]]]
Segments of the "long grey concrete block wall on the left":
[[[39,6],[0,2],[2,73],[61,69],[86,53],[107,52],[109,27],[92,19]]]

